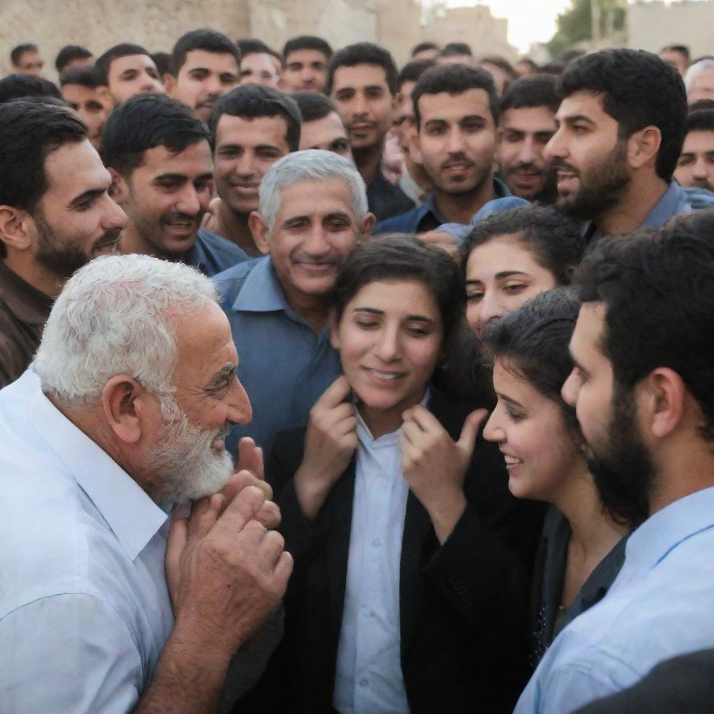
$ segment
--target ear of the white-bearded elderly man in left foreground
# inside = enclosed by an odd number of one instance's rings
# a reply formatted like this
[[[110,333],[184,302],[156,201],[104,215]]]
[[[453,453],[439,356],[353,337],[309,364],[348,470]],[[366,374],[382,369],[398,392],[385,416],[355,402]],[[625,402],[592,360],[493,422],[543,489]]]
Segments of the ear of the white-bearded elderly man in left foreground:
[[[112,377],[101,393],[101,406],[111,431],[124,443],[134,444],[148,428],[149,400],[154,401],[136,379],[119,374]]]

